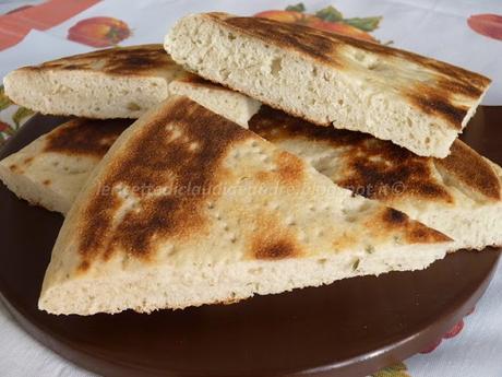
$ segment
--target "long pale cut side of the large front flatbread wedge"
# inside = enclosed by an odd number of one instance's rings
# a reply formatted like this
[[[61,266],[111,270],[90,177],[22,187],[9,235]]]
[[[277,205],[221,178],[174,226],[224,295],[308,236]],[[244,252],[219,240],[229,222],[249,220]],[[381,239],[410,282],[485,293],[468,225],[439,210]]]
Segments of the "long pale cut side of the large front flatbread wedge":
[[[52,285],[43,291],[38,307],[56,315],[86,316],[125,309],[152,313],[164,308],[228,304],[254,295],[331,284],[346,278],[422,270],[444,255],[444,246],[408,245],[374,254],[362,250],[359,255],[337,254],[330,258],[242,261],[212,267],[162,266],[132,274],[83,276]]]

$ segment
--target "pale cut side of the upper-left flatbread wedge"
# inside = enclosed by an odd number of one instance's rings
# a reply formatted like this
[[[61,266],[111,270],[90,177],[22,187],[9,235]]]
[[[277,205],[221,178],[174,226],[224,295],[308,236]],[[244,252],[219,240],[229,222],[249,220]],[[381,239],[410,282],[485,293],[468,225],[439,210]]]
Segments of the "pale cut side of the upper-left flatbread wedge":
[[[168,96],[163,76],[19,69],[3,79],[5,95],[20,106],[48,115],[139,118]],[[29,91],[26,89],[29,87]]]

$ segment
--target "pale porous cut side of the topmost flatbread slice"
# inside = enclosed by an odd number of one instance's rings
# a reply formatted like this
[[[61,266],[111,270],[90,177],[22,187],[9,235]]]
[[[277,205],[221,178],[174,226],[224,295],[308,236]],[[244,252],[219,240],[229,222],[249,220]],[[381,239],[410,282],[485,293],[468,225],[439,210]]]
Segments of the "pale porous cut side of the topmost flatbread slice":
[[[166,50],[196,74],[272,107],[318,125],[368,132],[421,156],[445,157],[462,131],[397,95],[361,94],[357,80],[292,47],[279,48],[244,34],[236,39],[236,31],[215,20],[225,16],[231,15],[192,14],[179,20],[165,38]],[[205,40],[213,36],[217,37],[211,43]],[[469,106],[462,127],[477,104]]]

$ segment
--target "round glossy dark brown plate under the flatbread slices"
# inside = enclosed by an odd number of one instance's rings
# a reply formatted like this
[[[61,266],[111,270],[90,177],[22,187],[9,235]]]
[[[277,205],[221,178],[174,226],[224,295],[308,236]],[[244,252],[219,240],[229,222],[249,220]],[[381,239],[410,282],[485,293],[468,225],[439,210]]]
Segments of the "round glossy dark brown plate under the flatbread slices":
[[[485,107],[464,134],[502,163],[502,107]],[[499,121],[499,123],[498,123]],[[19,150],[61,118],[37,116],[5,145]],[[107,376],[363,376],[404,360],[468,313],[500,252],[459,251],[419,272],[357,278],[235,305],[152,315],[57,317],[37,309],[62,217],[0,186],[0,293],[41,343]]]

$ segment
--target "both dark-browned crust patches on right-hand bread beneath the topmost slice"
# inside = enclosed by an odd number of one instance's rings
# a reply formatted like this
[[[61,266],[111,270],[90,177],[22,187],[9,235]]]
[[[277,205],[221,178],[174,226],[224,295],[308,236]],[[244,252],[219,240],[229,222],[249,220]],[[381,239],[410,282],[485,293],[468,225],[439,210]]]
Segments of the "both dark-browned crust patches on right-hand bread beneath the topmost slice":
[[[249,121],[250,130],[268,141],[307,139],[340,151],[336,184],[367,198],[427,200],[453,204],[449,187],[434,173],[454,178],[475,197],[501,200],[501,182],[490,164],[476,151],[455,140],[446,158],[421,157],[369,134],[314,127],[283,111],[262,106]]]

